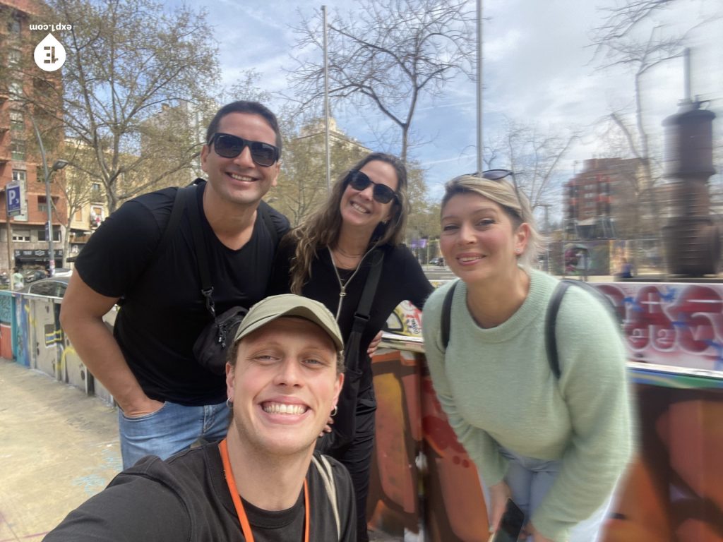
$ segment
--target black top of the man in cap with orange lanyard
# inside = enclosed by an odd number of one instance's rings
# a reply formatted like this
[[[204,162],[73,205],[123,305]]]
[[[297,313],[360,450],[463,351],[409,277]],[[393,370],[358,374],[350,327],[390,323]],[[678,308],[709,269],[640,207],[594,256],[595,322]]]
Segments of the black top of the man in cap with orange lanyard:
[[[341,538],[319,471],[312,463],[309,483],[309,540],[356,541],[351,478],[328,457],[336,486]],[[269,512],[244,501],[256,542],[304,540],[304,496],[294,507]],[[243,542],[239,517],[228,492],[218,444],[181,452],[167,461],[145,457],[120,473],[108,488],[70,514],[46,542]]]

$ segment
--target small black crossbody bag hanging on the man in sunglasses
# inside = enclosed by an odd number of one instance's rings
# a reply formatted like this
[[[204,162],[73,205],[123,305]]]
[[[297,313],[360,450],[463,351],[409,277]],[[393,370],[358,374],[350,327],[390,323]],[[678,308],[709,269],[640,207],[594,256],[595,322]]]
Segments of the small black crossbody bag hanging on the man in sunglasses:
[[[231,307],[203,328],[193,343],[193,356],[200,366],[213,374],[226,374],[226,346],[233,342],[236,330],[247,312],[248,309],[242,306]]]

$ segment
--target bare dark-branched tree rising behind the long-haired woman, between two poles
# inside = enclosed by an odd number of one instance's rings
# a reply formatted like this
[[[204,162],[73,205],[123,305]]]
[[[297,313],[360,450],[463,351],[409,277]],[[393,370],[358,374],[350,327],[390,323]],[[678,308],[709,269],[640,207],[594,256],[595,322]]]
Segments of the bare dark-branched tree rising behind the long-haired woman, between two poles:
[[[336,12],[328,25],[330,96],[377,108],[401,132],[406,162],[419,98],[441,95],[456,74],[471,73],[473,22],[464,0],[360,0],[354,12]],[[298,48],[322,49],[318,12],[294,30]],[[320,103],[323,62],[296,61],[291,85],[302,106]]]

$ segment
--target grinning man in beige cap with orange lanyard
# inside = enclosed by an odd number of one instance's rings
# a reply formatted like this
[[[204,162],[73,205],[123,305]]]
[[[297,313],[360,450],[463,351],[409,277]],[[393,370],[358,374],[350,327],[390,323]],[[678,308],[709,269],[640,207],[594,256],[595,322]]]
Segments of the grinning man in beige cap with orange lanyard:
[[[342,352],[317,301],[255,304],[226,365],[226,439],[145,457],[45,541],[356,541],[351,478],[314,452],[341,391]]]

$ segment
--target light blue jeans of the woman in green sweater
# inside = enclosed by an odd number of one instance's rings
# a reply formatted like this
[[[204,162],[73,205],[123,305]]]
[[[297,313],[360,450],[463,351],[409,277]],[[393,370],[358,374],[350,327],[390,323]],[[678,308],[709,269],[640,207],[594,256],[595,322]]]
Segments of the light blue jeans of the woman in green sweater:
[[[531,515],[539,507],[540,502],[552,487],[552,483],[560,473],[562,462],[535,459],[525,457],[511,452],[509,449],[500,446],[500,454],[505,457],[508,463],[505,482],[512,492],[512,500],[520,509],[525,512],[525,520],[529,521]],[[485,502],[489,503],[489,491],[482,483]],[[571,531],[569,542],[594,542],[602,534],[602,524],[607,515],[607,510],[612,504],[612,495],[586,520],[578,523]],[[520,541],[525,540],[520,538]],[[532,541],[530,537],[529,542]]]

